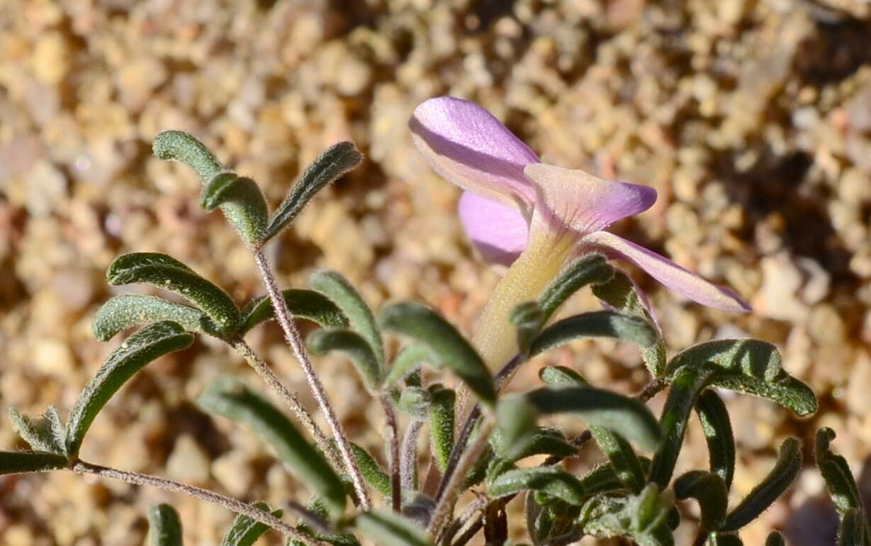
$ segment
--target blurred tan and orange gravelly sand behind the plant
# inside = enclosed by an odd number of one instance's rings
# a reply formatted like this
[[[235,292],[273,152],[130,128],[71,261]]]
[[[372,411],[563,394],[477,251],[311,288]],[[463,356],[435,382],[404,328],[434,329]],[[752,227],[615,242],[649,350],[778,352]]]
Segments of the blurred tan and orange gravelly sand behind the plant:
[[[0,0],[0,448],[24,448],[10,406],[57,404],[65,415],[117,347],[92,338],[93,313],[113,293],[147,288],[105,284],[116,255],[170,253],[240,302],[263,292],[232,229],[199,209],[192,173],[151,157],[164,129],[198,135],[273,206],[319,152],[353,140],[365,163],[271,248],[281,282],[303,286],[313,268],[334,268],[375,307],[423,300],[469,333],[498,272],[463,238],[458,191],[407,130],[415,105],[442,94],[483,104],[549,163],[655,187],[657,205],[614,231],[755,307],[715,312],[636,275],[670,351],[715,336],[769,340],[819,394],[809,420],[748,396],[728,401],[733,502],[766,475],[784,436],[810,442],[823,425],[861,470],[871,452],[864,0]],[[596,306],[580,294],[570,307]],[[314,408],[278,328],[250,341]],[[647,381],[633,347],[591,341],[549,358],[626,393]],[[516,387],[536,384],[542,363]],[[352,439],[383,460],[381,413],[348,363],[316,366]],[[293,479],[245,429],[192,404],[221,374],[260,385],[212,340],[154,362],[100,415],[83,458],[280,505]],[[706,461],[696,426],[679,472]],[[598,456],[586,448],[577,468]],[[796,545],[834,543],[822,488],[808,467],[746,543],[772,528]],[[119,482],[6,477],[0,543],[139,545],[146,507],[166,500],[188,544],[218,543],[232,519]]]

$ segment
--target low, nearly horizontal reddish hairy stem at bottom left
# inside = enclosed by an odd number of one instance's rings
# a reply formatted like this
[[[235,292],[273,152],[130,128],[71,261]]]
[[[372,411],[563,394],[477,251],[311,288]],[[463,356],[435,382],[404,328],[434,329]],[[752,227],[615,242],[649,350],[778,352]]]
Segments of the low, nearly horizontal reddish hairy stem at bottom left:
[[[264,525],[268,525],[273,529],[279,530],[285,535],[290,536],[294,540],[298,540],[301,543],[310,544],[311,546],[327,546],[327,544],[322,543],[321,541],[316,540],[311,536],[307,536],[302,531],[295,529],[289,523],[281,521],[279,518],[273,516],[272,514],[269,514],[268,512],[256,509],[250,504],[246,504],[245,502],[238,501],[231,497],[219,495],[218,493],[215,493],[214,491],[210,491],[208,489],[202,489],[194,487],[192,485],[188,485],[186,483],[175,482],[166,478],[160,478],[156,475],[147,475],[140,474],[138,472],[129,472],[127,470],[118,470],[117,468],[104,467],[98,464],[91,464],[90,462],[84,461],[73,462],[70,470],[72,472],[76,472],[77,474],[91,474],[105,478],[114,478],[116,480],[132,483],[134,485],[151,485],[159,489],[164,489],[165,491],[170,491],[171,493],[181,493],[182,495],[192,496],[202,501],[218,504],[219,506],[222,506],[237,514],[248,516],[254,521],[261,522]]]

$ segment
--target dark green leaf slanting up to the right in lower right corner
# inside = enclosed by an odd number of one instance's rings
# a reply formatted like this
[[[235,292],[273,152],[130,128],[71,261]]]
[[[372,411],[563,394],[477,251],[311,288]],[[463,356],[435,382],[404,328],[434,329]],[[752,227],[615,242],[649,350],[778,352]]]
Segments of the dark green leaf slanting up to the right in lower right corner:
[[[721,529],[735,531],[756,519],[793,483],[801,462],[801,441],[787,438],[780,444],[780,455],[772,471],[726,516]]]

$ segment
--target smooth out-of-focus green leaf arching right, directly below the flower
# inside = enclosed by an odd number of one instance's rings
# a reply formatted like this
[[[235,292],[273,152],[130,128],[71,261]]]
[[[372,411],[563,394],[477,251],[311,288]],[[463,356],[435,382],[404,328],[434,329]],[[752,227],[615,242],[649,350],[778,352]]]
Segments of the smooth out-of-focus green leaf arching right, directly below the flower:
[[[571,413],[587,424],[610,428],[642,448],[653,449],[662,433],[644,404],[621,394],[589,387],[539,388],[526,394],[543,414]]]

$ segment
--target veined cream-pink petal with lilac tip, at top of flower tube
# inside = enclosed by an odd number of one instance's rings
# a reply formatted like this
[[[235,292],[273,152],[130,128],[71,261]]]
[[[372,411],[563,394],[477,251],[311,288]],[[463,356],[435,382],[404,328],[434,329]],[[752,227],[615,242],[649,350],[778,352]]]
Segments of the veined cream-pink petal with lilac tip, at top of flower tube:
[[[582,236],[645,212],[656,202],[652,187],[611,182],[576,169],[536,163],[526,165],[523,174],[536,186],[537,212],[551,229]]]

